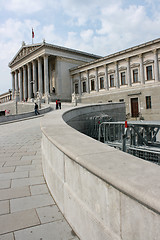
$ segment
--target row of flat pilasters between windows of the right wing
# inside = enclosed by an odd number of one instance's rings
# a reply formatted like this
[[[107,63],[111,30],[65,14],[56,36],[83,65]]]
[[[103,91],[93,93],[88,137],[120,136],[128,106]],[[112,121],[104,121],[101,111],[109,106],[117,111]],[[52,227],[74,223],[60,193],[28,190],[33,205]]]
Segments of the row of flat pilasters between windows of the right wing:
[[[153,67],[153,79],[155,82],[159,82],[160,81],[160,72],[159,72],[159,60],[158,60],[158,50],[154,49],[152,51],[153,54],[153,63],[154,63],[154,67]],[[137,67],[139,70],[138,76],[139,76],[139,83],[144,85],[145,81],[146,81],[146,76],[145,76],[145,62],[144,62],[144,55],[143,54],[139,54],[138,55],[139,58],[139,67]],[[125,74],[126,74],[126,84],[128,85],[128,87],[132,86],[132,79],[131,79],[131,58],[128,57],[126,59],[122,59],[125,60],[127,62],[126,64],[126,70],[125,70]],[[121,70],[119,70],[120,67],[120,61],[114,61],[108,64],[103,65],[104,67],[104,89],[109,90],[109,79],[108,79],[108,75],[110,74],[108,72],[109,69],[109,65],[114,64],[114,77],[115,77],[115,88],[120,88],[121,84],[120,84],[120,72],[122,72]],[[137,63],[136,63],[137,64]],[[83,71],[83,69],[79,69],[79,74],[78,74],[78,78],[77,78],[77,73],[75,74],[76,80],[74,80],[74,75],[72,75],[71,78],[71,89],[72,89],[72,93],[75,91],[74,89],[74,82],[78,83],[78,92],[79,95],[82,95],[82,86],[81,83],[84,81],[84,78],[81,78],[82,74],[85,73],[85,79],[86,79],[86,89],[87,89],[87,93],[90,93],[90,71],[92,71],[94,69],[94,81],[95,81],[95,91],[98,92],[99,91],[99,72],[98,69],[102,67],[102,65],[97,66],[92,68],[92,66],[90,66],[90,69]],[[91,78],[93,79],[93,78]]]

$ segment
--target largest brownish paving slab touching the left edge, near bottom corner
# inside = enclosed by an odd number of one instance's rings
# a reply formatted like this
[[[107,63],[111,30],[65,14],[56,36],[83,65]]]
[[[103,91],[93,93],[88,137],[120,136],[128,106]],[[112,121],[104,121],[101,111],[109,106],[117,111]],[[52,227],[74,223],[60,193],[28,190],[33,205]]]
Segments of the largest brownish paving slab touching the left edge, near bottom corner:
[[[40,224],[35,209],[0,216],[0,234]],[[25,238],[22,238],[25,239]]]

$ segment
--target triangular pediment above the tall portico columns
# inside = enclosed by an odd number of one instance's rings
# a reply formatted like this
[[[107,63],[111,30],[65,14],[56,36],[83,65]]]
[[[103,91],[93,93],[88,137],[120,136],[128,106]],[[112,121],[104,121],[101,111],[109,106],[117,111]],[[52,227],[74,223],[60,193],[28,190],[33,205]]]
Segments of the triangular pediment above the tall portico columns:
[[[25,56],[31,54],[32,52],[36,51],[41,46],[42,46],[42,44],[28,45],[28,46],[27,45],[23,45],[20,48],[20,50],[18,51],[18,53],[15,55],[15,57],[12,59],[12,61],[9,63],[9,66],[11,66],[12,64],[18,62],[19,60],[21,60]]]

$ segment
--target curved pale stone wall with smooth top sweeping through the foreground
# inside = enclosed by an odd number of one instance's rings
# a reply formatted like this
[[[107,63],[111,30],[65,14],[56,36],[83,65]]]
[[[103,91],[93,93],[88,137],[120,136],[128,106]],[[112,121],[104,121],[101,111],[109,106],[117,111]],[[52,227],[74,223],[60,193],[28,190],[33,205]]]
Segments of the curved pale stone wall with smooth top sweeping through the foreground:
[[[60,210],[81,240],[158,240],[159,166],[64,122],[84,109],[50,112],[41,123],[44,176]]]

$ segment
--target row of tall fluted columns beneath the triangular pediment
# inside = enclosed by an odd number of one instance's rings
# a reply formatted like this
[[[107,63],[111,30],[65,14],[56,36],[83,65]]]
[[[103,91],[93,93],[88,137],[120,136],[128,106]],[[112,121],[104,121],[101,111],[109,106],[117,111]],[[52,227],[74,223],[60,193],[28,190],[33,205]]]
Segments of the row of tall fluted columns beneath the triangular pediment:
[[[28,62],[11,74],[13,98],[15,93],[19,93],[20,101],[30,101],[37,97],[37,92],[40,96],[48,97],[50,93],[48,55]]]

